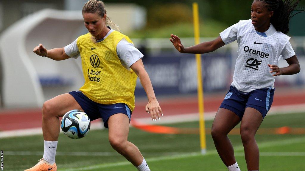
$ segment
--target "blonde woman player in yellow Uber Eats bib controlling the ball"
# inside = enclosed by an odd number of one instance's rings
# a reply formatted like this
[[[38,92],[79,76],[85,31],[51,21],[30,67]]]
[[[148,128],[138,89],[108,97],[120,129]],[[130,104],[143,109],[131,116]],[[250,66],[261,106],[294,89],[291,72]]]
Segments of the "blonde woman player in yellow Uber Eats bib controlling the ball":
[[[42,107],[42,130],[45,142],[43,158],[26,171],[56,171],[55,154],[59,135],[59,117],[67,111],[83,110],[90,120],[103,119],[109,128],[111,146],[140,171],[149,171],[139,149],[127,141],[131,111],[135,107],[137,76],[148,97],[146,112],[152,120],[163,116],[151,81],[142,63],[142,53],[107,17],[104,3],[89,0],[82,9],[84,25],[89,33],[78,37],[72,44],[47,50],[42,44],[34,53],[56,61],[77,58],[82,60],[85,83],[79,91],[62,94],[46,101]]]

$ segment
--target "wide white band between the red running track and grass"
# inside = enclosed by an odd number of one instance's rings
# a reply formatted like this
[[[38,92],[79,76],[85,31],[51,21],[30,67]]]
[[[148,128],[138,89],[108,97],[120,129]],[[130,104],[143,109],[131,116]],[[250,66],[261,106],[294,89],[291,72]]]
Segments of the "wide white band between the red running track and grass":
[[[205,112],[205,120],[213,120],[217,111],[214,112]],[[271,110],[267,113],[269,115],[275,114],[285,114],[285,113],[298,113],[305,112],[305,104],[297,105],[284,105],[284,106],[272,106]],[[186,113],[179,115],[166,116],[157,122],[153,122],[150,117],[134,119],[142,124],[169,124],[169,123],[179,123],[179,122],[191,122],[198,121],[198,113]],[[91,123],[90,130],[104,129],[102,122]],[[19,137],[19,136],[28,136],[28,135],[39,135],[42,134],[42,128],[30,128],[30,129],[21,129],[21,130],[12,130],[12,131],[0,131],[0,138],[6,137]]]

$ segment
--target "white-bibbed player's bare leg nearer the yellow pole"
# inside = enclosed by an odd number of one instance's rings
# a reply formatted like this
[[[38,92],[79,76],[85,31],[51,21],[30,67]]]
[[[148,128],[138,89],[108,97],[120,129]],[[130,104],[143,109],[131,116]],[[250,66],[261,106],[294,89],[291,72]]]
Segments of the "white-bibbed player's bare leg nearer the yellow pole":
[[[228,133],[240,122],[239,117],[231,110],[219,108],[212,125],[212,138],[217,152],[228,167],[233,165],[236,160],[234,149],[228,138]]]

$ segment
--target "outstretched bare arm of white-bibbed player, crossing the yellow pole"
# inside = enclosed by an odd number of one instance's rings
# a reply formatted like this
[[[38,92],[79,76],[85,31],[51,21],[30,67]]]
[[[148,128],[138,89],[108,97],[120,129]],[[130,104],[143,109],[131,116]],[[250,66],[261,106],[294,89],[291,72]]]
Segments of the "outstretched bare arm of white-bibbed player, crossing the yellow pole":
[[[217,37],[215,40],[210,42],[203,42],[191,47],[183,47],[181,44],[180,38],[176,35],[170,35],[170,41],[173,43],[174,47],[181,53],[188,53],[188,54],[205,54],[209,52],[213,52],[216,49],[224,46],[224,42],[222,41],[221,37]]]

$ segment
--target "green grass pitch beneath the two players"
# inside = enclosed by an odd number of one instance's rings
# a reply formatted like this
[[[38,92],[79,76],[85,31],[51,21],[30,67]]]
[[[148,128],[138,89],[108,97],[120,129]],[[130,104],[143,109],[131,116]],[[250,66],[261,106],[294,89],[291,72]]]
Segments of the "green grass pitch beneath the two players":
[[[268,116],[261,128],[304,127],[305,113]],[[206,122],[211,127],[212,121]],[[167,124],[174,127],[198,127],[198,122]],[[59,171],[129,171],[136,170],[127,160],[117,154],[109,145],[108,130],[95,130],[83,139],[72,140],[59,135],[56,164]],[[229,135],[236,159],[242,170],[246,161],[240,135]],[[211,135],[206,135],[207,154],[200,155],[199,135],[151,134],[130,129],[129,141],[138,146],[153,171],[225,171]],[[260,147],[260,168],[264,171],[300,171],[305,167],[305,135],[257,135]],[[17,171],[34,166],[43,155],[43,137],[26,136],[0,139],[4,150],[4,170]],[[31,154],[23,155],[20,152]],[[78,152],[75,153],[69,152]],[[83,153],[79,153],[83,152]],[[103,154],[106,155],[102,156]]]

